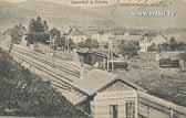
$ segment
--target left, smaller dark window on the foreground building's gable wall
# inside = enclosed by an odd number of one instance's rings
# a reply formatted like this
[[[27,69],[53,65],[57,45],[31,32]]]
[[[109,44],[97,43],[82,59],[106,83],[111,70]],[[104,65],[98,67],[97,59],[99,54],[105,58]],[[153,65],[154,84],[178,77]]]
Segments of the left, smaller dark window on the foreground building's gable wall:
[[[110,106],[110,118],[118,118],[118,106],[117,105]]]

